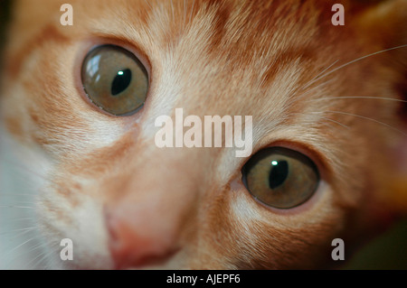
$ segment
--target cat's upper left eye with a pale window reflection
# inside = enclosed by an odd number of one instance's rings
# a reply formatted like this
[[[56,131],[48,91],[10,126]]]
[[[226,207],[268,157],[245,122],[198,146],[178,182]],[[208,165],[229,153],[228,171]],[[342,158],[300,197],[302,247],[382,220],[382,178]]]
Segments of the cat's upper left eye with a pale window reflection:
[[[90,101],[115,116],[136,113],[147,98],[146,68],[118,46],[103,45],[90,51],[82,64],[81,79]]]

